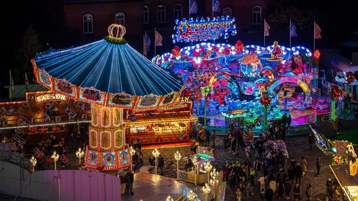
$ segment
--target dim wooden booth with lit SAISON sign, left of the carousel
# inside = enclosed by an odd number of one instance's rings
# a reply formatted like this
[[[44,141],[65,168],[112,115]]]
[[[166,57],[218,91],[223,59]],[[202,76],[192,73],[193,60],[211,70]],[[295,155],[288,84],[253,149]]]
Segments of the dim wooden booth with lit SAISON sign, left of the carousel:
[[[73,101],[51,91],[27,92],[25,101],[0,103],[0,128],[10,137],[14,130],[18,137],[27,137],[27,144],[36,145],[50,134],[57,139],[67,134],[67,124],[89,121],[90,104]],[[9,136],[6,136],[9,135]]]

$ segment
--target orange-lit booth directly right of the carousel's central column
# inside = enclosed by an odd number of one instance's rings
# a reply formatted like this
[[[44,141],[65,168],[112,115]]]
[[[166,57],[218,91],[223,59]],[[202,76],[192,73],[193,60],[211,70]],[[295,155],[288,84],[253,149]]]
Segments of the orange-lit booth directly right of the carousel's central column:
[[[177,102],[159,110],[124,110],[126,142],[155,144],[165,142],[187,142],[192,133],[192,102]]]

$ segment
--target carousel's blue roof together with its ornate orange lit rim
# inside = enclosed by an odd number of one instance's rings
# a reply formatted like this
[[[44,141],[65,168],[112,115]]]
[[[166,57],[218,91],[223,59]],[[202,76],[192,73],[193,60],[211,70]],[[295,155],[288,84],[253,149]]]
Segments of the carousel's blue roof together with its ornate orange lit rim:
[[[184,89],[180,80],[143,57],[123,38],[113,36],[37,54],[31,60],[37,82],[78,101],[103,106],[134,109],[175,103]]]

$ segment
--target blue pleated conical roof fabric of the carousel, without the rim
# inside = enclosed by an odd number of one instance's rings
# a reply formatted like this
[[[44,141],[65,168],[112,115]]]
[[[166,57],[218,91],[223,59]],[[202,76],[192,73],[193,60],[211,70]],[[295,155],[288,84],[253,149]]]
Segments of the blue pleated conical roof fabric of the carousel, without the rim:
[[[127,43],[105,39],[66,50],[50,49],[34,61],[52,77],[107,93],[165,95],[183,85]]]

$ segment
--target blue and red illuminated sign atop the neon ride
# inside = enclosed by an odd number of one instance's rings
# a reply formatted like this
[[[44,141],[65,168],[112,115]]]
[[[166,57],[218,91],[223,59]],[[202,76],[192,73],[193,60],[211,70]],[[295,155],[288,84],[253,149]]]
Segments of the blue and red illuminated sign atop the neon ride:
[[[206,20],[203,17],[200,20],[199,17],[196,20],[193,18],[176,20],[176,27],[174,27],[176,34],[172,36],[173,43],[216,40],[220,37],[227,39],[230,32],[231,36],[236,35],[236,24],[234,23],[235,18],[229,16],[213,17],[211,20],[209,17],[206,17]]]

